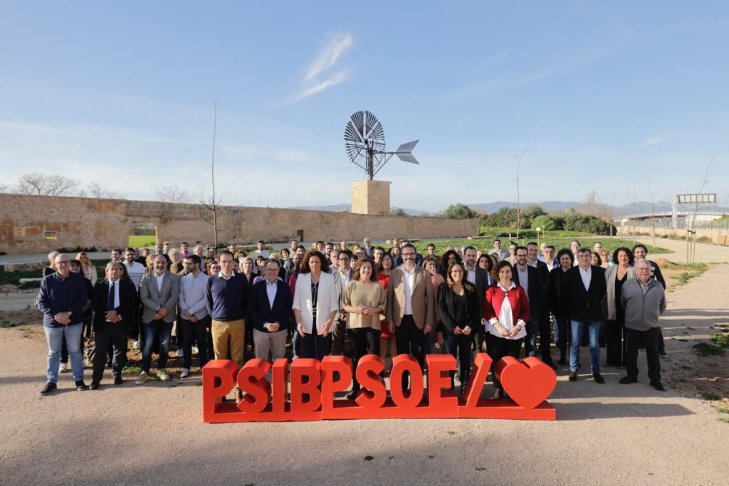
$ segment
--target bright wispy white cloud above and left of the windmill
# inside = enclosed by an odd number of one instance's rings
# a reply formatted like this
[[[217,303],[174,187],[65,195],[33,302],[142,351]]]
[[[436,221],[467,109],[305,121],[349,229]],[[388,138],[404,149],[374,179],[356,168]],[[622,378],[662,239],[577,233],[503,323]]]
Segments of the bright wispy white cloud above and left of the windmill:
[[[333,70],[337,66],[338,60],[352,47],[352,44],[354,44],[354,39],[351,34],[332,36],[306,69],[306,74],[299,82],[298,93],[294,95],[292,101],[301,101],[350,79],[351,69]],[[322,77],[324,79],[321,79]]]

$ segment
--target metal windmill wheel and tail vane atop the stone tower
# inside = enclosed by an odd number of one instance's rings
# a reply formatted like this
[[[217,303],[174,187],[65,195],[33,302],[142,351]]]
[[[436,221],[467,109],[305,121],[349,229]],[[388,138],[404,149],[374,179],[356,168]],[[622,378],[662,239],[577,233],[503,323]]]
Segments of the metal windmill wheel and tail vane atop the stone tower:
[[[400,145],[397,150],[388,152],[385,146],[385,129],[370,111],[356,111],[344,129],[344,146],[349,160],[362,168],[370,181],[375,179],[381,168],[393,155],[402,162],[419,164],[413,156],[413,148],[418,140]]]

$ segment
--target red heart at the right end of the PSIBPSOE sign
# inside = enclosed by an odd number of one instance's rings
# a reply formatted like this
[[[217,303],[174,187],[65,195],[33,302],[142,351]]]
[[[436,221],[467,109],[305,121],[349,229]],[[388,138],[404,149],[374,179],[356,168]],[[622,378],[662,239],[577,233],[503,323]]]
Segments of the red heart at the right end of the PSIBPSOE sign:
[[[554,370],[534,357],[519,361],[513,356],[505,356],[496,364],[496,375],[504,391],[523,409],[537,407],[557,385]]]

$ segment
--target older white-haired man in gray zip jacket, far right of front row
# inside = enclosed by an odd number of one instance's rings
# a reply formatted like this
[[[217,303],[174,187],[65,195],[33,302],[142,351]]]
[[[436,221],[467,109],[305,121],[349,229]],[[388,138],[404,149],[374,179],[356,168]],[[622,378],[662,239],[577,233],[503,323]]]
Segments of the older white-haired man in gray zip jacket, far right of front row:
[[[628,375],[620,383],[638,381],[638,348],[645,345],[648,358],[650,385],[658,391],[666,391],[660,383],[660,324],[658,319],[666,310],[666,294],[663,286],[650,278],[650,262],[646,259],[634,263],[635,278],[623,284],[620,303],[625,309],[625,370]]]

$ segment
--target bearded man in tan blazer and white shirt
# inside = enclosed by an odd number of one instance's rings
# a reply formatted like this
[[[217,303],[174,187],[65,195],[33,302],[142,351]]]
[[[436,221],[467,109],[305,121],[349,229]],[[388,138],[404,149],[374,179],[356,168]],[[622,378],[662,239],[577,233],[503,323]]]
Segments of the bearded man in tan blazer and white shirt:
[[[425,364],[423,341],[433,328],[435,291],[430,273],[415,263],[416,250],[411,243],[402,245],[402,265],[392,270],[387,285],[386,320],[395,334],[398,354],[411,354],[421,368]],[[408,388],[407,375],[402,389]]]

